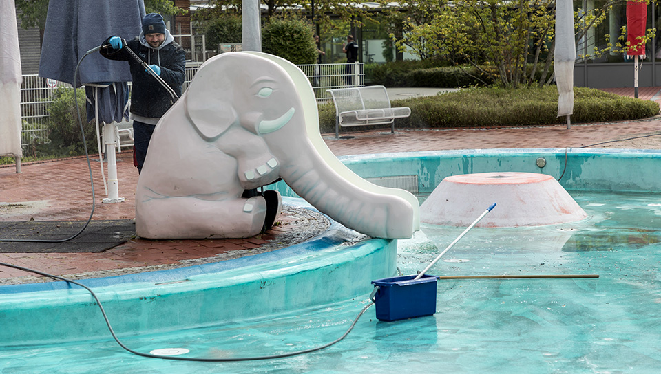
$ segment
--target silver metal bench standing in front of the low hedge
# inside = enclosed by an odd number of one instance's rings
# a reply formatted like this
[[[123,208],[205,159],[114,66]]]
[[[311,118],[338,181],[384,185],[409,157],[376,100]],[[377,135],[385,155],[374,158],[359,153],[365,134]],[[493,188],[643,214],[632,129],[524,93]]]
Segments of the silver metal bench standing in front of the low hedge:
[[[384,86],[365,86],[327,89],[335,104],[335,139],[339,127],[390,124],[395,133],[395,118],[411,115],[409,107],[390,107],[390,98]]]

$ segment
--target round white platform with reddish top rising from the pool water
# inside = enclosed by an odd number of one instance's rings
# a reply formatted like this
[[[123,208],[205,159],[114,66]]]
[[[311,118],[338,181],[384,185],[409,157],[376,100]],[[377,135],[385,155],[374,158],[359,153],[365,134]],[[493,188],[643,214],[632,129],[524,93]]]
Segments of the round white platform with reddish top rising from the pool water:
[[[569,223],[587,214],[550,175],[476,173],[446,177],[420,207],[432,225],[468,226],[492,203],[477,226],[516,227]]]

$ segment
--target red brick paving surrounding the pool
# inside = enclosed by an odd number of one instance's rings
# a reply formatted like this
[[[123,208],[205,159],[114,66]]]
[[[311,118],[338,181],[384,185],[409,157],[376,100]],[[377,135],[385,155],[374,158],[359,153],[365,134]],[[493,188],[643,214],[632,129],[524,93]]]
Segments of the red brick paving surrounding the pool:
[[[660,87],[645,87],[640,98],[655,100]],[[620,89],[620,91],[626,89]],[[633,89],[630,89],[633,96]],[[627,91],[617,92],[629,95]],[[661,149],[661,118],[614,122],[607,124],[572,124],[531,128],[501,129],[375,129],[350,133],[351,139],[335,140],[334,134],[324,140],[335,155],[439,151],[487,148],[592,148]],[[636,138],[636,139],[632,139]],[[605,143],[607,142],[607,143]],[[98,157],[98,156],[96,156]],[[94,155],[92,155],[94,158]],[[96,204],[94,220],[132,219],[138,173],[132,165],[132,153],[118,154],[118,185],[123,203],[102,203],[105,197],[101,169],[92,162]],[[0,167],[0,221],[85,221],[90,215],[90,191],[87,162],[84,157],[52,162],[26,163],[16,174],[13,165]],[[132,239],[105,252],[89,253],[0,253],[0,262],[30,267],[60,276],[76,278],[109,276],[122,270],[154,270],[160,266],[184,264],[196,259],[231,258],[260,251],[268,245],[287,245],[288,241],[305,240],[314,234],[300,212],[286,210],[281,225],[264,235],[250,239],[149,241]],[[82,225],[82,222],[81,222]],[[291,234],[304,232],[291,239]],[[4,237],[4,236],[3,236]],[[181,265],[185,266],[185,265]],[[50,281],[21,270],[0,267],[0,285]]]

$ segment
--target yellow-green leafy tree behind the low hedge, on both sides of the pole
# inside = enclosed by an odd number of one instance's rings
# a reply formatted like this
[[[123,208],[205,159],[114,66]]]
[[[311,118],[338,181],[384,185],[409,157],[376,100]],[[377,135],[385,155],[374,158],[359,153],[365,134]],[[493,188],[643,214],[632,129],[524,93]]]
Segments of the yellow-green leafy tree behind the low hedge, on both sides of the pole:
[[[645,0],[642,0],[645,1]],[[576,12],[576,40],[605,38],[594,35],[616,4],[607,0],[601,8]],[[456,65],[468,64],[504,87],[552,82],[555,47],[555,0],[420,0],[403,3],[390,12],[390,22],[403,32],[390,34],[401,50],[408,48],[420,58],[441,58]],[[640,43],[647,43],[655,30],[648,30]],[[595,48],[578,58],[594,58],[606,52],[626,52],[636,46],[625,42],[621,30],[617,43]],[[594,42],[594,41],[593,41]],[[594,43],[592,43],[594,44]],[[468,72],[467,72],[468,74]]]

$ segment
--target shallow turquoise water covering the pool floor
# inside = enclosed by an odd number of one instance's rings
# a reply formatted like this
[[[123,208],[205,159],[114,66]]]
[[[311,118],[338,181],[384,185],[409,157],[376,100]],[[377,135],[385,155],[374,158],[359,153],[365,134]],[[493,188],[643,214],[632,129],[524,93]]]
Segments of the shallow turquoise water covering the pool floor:
[[[294,358],[154,360],[100,336],[84,344],[0,349],[0,373],[658,373],[661,199],[570,193],[587,219],[474,228],[430,274],[598,274],[596,279],[441,280],[434,316],[380,322],[372,308],[342,342]],[[401,272],[422,270],[463,230],[423,225],[413,239],[399,241]],[[366,294],[269,318],[122,339],[145,353],[185,348],[189,357],[271,355],[339,338],[367,303]]]

